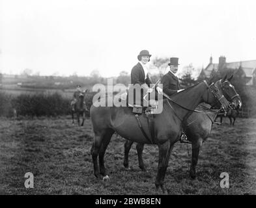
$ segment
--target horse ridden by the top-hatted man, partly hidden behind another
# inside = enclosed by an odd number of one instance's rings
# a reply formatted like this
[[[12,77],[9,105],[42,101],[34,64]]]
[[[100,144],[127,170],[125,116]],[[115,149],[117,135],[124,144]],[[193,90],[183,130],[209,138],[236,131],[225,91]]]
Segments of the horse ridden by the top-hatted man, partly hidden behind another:
[[[237,94],[235,87],[231,85],[231,83],[229,83],[232,77],[233,76],[231,76],[229,79],[226,79],[225,77],[224,79],[218,81],[216,85],[221,89],[225,98],[227,98],[227,100],[232,103],[233,108],[235,110],[238,110],[240,109],[240,107],[242,107],[242,101],[240,99],[240,96]],[[219,103],[216,103],[216,107],[220,108],[220,105],[218,104]],[[208,109],[208,105],[205,103],[201,103],[196,109],[206,112],[206,114],[193,112],[191,116],[188,117],[188,120],[186,121],[186,127],[184,129],[188,140],[192,142],[192,163],[190,166],[190,177],[192,177],[192,179],[195,179],[196,177],[195,168],[197,165],[200,148],[203,142],[205,142],[206,138],[208,138],[208,136],[210,135],[212,130],[212,124],[214,123],[218,114],[218,110]],[[234,109],[229,110],[229,112],[227,112],[227,115],[232,113]],[[131,140],[126,140],[124,144],[125,168],[129,168],[128,154],[130,148],[132,147],[132,144],[133,142]],[[146,171],[142,158],[143,148],[144,144],[137,143],[136,149],[139,161],[139,168],[141,168],[141,170],[143,171]]]

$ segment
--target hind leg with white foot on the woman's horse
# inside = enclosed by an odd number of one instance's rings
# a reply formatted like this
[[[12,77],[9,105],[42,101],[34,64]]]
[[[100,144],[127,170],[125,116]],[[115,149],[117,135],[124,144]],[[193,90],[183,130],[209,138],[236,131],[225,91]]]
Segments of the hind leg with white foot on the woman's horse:
[[[106,175],[106,168],[104,166],[104,155],[113,133],[115,133],[113,129],[107,129],[106,133],[103,136],[102,145],[100,146],[100,150],[98,152],[99,163],[100,163],[100,174],[103,175],[103,180],[109,179],[109,177]]]

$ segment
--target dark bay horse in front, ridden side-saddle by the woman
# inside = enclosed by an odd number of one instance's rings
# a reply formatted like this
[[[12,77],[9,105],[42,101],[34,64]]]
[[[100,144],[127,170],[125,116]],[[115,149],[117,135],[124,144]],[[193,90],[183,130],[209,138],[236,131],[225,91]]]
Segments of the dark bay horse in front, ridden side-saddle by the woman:
[[[104,102],[107,101],[106,98],[102,99],[104,99],[102,100]],[[161,188],[162,192],[167,194],[164,185],[165,172],[171,150],[180,138],[182,122],[192,114],[192,110],[199,103],[213,104],[216,100],[221,100],[223,107],[226,110],[229,109],[229,102],[223,98],[218,86],[212,83],[212,79],[209,79],[175,94],[172,101],[168,99],[158,101],[158,103],[162,102],[159,105],[163,105],[163,110],[160,114],[155,114],[154,117],[154,144],[157,144],[159,149],[158,172],[155,180],[156,190],[159,191]],[[143,144],[150,144],[150,142],[141,132],[135,114],[130,107],[115,107],[115,105],[112,105],[112,107],[96,107],[92,105],[90,114],[94,131],[94,142],[91,148],[94,175],[98,178],[103,177],[103,180],[109,179],[104,166],[104,154],[113,133],[116,132],[133,142]],[[141,124],[147,126],[147,116],[141,114],[139,117]],[[150,135],[149,129],[145,132]],[[100,168],[97,161],[98,156]]]

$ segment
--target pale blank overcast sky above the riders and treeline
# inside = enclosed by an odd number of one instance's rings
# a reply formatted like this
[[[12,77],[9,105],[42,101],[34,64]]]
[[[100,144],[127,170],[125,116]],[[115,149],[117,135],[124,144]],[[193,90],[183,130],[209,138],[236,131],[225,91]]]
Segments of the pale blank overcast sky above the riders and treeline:
[[[0,0],[0,72],[111,77],[137,54],[192,63],[256,59],[254,1]]]

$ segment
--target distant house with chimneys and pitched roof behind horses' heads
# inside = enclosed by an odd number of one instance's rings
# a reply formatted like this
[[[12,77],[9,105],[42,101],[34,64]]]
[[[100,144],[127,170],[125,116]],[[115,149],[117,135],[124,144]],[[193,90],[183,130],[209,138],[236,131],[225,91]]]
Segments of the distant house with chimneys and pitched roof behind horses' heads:
[[[226,62],[226,58],[221,56],[219,58],[219,63],[214,64],[212,63],[212,57],[210,57],[208,66],[206,66],[205,69],[202,69],[198,79],[210,77],[213,72],[231,72],[244,78],[246,85],[256,86],[256,60]]]

